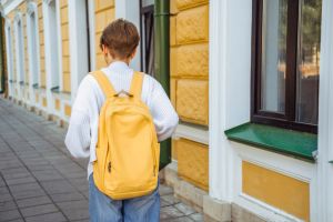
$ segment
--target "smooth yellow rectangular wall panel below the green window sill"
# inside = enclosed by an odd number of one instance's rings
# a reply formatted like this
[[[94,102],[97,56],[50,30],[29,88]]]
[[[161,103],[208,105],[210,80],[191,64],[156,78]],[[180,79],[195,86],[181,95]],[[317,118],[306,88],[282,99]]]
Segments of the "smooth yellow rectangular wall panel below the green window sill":
[[[242,190],[248,195],[310,221],[310,185],[306,182],[242,162]]]

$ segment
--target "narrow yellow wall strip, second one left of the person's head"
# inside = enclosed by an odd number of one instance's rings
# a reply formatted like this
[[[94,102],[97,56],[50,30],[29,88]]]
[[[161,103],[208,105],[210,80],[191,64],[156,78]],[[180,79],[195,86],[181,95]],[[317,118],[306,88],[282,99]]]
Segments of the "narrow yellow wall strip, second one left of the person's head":
[[[68,0],[60,1],[60,21],[62,42],[62,90],[64,92],[71,92]]]

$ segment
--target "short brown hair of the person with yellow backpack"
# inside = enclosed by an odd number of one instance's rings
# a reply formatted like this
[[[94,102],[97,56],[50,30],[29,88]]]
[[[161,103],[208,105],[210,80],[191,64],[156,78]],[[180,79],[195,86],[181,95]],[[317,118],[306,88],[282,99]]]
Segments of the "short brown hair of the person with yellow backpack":
[[[100,48],[105,46],[113,58],[127,59],[140,41],[135,26],[124,19],[117,19],[111,22],[102,32]]]

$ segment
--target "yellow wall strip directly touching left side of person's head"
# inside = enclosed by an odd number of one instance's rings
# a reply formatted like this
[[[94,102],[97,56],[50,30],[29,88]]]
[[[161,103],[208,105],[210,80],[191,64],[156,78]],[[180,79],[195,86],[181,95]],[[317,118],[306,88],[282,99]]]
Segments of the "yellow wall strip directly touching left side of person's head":
[[[114,20],[114,0],[94,0],[94,39],[95,39],[95,68],[107,65],[100,49],[100,38],[103,29]]]

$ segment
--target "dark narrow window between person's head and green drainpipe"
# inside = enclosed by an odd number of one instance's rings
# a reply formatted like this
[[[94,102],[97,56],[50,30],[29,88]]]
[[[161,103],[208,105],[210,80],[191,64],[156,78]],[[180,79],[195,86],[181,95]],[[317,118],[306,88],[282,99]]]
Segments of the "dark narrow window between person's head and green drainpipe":
[[[153,75],[154,72],[154,2],[140,0],[141,13],[141,67],[142,71]]]

